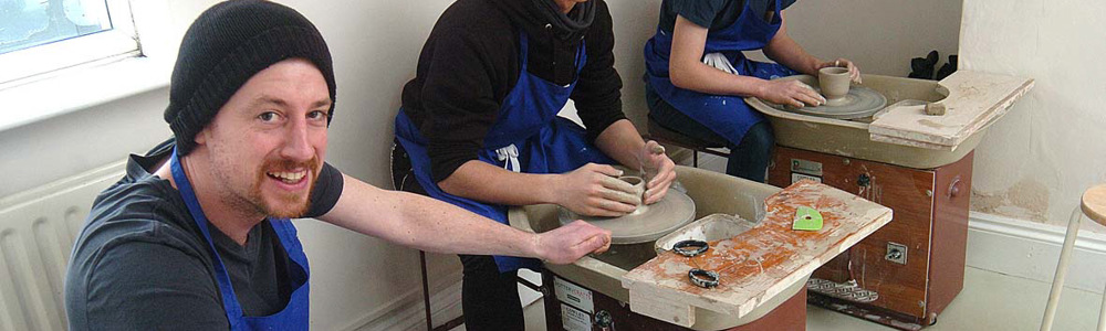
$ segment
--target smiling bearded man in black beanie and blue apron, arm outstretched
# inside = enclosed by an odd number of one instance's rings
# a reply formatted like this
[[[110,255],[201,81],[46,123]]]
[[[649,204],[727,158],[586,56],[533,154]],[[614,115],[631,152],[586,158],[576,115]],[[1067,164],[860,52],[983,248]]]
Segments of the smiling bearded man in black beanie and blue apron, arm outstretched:
[[[74,245],[70,329],[307,329],[310,273],[290,217],[444,253],[571,263],[606,248],[609,233],[584,222],[529,234],[342,174],[323,162],[334,82],[325,41],[295,10],[205,11],[173,72],[175,138],[131,157]]]

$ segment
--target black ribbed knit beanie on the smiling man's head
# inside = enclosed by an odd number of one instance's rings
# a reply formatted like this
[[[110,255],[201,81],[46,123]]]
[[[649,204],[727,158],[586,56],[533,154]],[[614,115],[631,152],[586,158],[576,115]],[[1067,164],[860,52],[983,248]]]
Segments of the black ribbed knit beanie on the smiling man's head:
[[[333,116],[331,52],[306,18],[291,8],[260,0],[227,1],[200,14],[180,42],[169,83],[169,107],[165,109],[165,121],[173,129],[180,156],[191,152],[196,134],[246,81],[294,57],[311,61],[323,73]]]

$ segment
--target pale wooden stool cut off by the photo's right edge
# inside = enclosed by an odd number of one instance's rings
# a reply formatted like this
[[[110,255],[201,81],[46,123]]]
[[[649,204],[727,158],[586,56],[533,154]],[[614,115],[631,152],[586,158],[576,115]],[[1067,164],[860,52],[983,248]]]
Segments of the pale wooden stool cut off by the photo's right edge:
[[[1087,189],[1083,192],[1083,204],[1072,211],[1071,222],[1067,224],[1067,235],[1064,236],[1064,247],[1060,250],[1060,264],[1056,265],[1056,277],[1052,280],[1052,291],[1048,293],[1048,305],[1044,309],[1044,320],[1041,321],[1041,331],[1052,329],[1053,319],[1056,318],[1056,306],[1060,305],[1060,291],[1064,288],[1064,277],[1067,276],[1067,265],[1071,263],[1072,247],[1075,246],[1075,237],[1079,232],[1079,220],[1087,215],[1091,221],[1106,225],[1106,184]],[[1098,330],[1106,330],[1106,293],[1103,293],[1103,306],[1098,313]]]

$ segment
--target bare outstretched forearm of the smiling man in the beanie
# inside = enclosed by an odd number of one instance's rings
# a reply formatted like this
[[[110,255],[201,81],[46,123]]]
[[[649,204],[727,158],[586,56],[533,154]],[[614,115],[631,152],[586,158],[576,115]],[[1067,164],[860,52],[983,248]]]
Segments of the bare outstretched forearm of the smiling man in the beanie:
[[[427,196],[349,177],[345,183],[337,204],[320,220],[428,252],[539,257],[534,234]]]

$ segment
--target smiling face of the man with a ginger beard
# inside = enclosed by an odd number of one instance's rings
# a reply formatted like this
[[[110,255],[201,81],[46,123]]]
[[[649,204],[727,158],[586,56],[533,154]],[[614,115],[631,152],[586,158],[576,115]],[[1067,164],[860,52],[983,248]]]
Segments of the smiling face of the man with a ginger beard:
[[[264,216],[298,217],[326,156],[331,108],[314,64],[290,58],[258,72],[196,136],[219,199]]]

